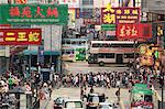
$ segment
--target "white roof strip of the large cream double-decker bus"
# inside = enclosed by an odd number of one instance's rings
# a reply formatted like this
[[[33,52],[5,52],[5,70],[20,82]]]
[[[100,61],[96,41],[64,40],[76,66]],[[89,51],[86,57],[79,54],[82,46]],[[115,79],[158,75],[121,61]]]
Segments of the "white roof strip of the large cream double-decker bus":
[[[91,41],[91,43],[116,43],[116,44],[134,44],[133,41]]]

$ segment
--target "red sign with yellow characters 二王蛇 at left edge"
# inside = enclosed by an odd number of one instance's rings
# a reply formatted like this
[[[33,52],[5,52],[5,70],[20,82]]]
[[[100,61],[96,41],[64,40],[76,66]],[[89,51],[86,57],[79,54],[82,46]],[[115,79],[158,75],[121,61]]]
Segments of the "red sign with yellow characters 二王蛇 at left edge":
[[[0,29],[0,45],[38,45],[41,29]]]

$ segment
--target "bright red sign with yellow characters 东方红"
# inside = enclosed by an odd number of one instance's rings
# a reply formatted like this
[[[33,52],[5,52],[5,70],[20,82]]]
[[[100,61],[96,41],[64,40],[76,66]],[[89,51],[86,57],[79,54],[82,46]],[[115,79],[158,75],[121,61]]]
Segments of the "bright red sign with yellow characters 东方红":
[[[151,24],[118,24],[117,37],[119,40],[128,39],[151,39]]]

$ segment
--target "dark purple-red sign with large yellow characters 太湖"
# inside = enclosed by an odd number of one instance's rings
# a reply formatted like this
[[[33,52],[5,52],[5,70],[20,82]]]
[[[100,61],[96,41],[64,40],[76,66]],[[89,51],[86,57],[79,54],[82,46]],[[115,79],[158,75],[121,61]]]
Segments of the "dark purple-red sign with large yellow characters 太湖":
[[[101,9],[102,24],[139,23],[140,8],[112,8],[110,3]]]

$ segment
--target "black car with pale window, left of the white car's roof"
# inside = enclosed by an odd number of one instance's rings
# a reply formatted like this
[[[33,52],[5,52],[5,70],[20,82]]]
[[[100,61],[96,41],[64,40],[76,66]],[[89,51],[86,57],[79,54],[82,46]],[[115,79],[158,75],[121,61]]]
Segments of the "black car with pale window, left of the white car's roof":
[[[88,94],[86,108],[87,109],[97,109],[97,107],[99,106],[99,102],[103,102],[103,101],[106,101],[105,95],[100,95],[97,92]]]

